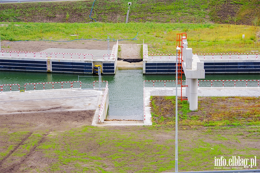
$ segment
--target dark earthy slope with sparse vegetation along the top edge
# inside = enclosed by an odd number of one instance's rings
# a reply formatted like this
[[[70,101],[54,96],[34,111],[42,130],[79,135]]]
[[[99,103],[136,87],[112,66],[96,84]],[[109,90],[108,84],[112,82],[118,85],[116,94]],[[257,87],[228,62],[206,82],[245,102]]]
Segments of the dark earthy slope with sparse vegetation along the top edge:
[[[97,0],[91,17],[125,22],[128,0]],[[93,1],[0,4],[1,22],[92,22]],[[259,25],[259,0],[132,0],[129,22],[231,23]]]

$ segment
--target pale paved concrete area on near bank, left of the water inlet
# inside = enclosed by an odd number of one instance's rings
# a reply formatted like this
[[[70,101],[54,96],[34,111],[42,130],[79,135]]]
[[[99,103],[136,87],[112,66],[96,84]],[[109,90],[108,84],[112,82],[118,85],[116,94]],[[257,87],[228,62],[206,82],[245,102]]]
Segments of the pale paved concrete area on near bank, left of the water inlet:
[[[63,89],[0,94],[0,114],[96,110],[103,91]]]

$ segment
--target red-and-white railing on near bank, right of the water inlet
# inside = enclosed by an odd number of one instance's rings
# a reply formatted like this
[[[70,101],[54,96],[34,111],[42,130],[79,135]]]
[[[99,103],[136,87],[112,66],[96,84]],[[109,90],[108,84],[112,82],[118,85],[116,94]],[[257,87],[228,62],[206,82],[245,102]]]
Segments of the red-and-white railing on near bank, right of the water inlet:
[[[182,81],[185,85],[186,81]],[[198,80],[198,87],[259,87],[260,80]],[[175,80],[145,80],[144,88],[176,87]],[[181,87],[178,84],[178,87]]]

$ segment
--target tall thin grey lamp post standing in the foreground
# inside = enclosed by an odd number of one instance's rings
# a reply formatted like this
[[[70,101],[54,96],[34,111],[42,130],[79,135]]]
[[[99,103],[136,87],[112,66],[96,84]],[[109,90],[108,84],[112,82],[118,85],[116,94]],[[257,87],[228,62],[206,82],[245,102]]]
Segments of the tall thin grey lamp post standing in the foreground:
[[[176,97],[175,97],[175,172],[178,172],[178,50],[176,48]]]

